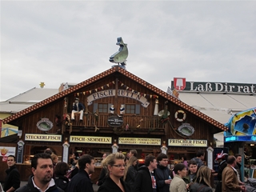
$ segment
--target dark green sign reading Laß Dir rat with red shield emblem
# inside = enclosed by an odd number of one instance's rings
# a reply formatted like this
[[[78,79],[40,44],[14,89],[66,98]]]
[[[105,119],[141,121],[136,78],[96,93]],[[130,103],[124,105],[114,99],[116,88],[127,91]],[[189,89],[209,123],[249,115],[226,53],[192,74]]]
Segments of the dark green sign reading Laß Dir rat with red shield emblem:
[[[172,88],[177,87],[176,81],[171,82]],[[184,79],[184,78],[181,78]],[[176,82],[176,84],[175,84]],[[178,85],[182,84],[183,91],[191,92],[213,92],[213,93],[238,93],[254,94],[256,93],[256,83],[234,83],[234,82],[184,82],[179,80]],[[182,83],[181,83],[182,82]]]

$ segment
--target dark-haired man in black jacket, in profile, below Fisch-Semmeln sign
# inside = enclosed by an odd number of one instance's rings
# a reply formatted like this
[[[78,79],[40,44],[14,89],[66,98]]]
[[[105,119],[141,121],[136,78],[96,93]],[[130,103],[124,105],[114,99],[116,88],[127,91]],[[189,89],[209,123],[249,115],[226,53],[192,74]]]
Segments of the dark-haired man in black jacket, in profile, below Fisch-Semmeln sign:
[[[74,175],[69,182],[67,191],[72,192],[94,192],[93,182],[90,181],[89,175],[94,173],[94,158],[89,154],[83,154],[78,159],[78,174]]]

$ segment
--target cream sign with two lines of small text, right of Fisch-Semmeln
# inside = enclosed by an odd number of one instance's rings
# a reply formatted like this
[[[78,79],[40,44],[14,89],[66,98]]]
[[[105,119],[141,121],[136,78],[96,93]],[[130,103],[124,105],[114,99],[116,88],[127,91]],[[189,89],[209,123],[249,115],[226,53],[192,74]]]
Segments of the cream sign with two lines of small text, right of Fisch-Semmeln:
[[[118,144],[161,146],[161,138],[118,138]]]

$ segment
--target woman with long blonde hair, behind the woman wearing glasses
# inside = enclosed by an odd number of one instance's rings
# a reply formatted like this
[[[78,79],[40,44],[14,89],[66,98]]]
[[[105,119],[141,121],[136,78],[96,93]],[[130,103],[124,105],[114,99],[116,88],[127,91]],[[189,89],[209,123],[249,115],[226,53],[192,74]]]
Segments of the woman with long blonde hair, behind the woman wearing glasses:
[[[137,158],[134,156],[131,156],[126,165],[123,180],[127,182],[130,186],[134,186],[134,180],[135,180],[136,174],[137,174]]]

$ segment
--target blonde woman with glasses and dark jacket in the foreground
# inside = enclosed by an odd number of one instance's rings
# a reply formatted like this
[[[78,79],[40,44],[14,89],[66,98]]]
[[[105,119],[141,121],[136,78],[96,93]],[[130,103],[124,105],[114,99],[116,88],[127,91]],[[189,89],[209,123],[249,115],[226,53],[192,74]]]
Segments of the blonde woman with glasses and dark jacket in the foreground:
[[[125,156],[121,153],[110,154],[102,162],[106,168],[106,180],[98,192],[131,192],[130,186],[122,180],[125,172]]]

